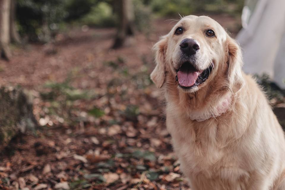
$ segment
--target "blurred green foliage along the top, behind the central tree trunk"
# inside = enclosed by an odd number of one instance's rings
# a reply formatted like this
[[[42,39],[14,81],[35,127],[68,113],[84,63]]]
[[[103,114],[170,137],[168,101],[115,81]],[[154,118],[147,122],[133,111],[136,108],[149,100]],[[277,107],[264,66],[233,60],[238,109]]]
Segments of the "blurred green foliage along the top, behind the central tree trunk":
[[[116,26],[114,0],[18,0],[17,25],[22,36],[30,41],[50,40],[66,26],[77,23],[99,27]],[[139,31],[148,31],[152,13],[159,16],[189,15],[195,12],[241,12],[243,0],[133,0],[134,24]]]

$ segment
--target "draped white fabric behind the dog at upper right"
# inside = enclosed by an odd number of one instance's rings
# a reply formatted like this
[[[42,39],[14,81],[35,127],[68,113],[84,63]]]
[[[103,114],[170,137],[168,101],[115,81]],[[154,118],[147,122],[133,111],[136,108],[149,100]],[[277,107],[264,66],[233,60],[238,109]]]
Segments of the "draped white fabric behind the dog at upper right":
[[[236,39],[243,50],[243,70],[267,73],[285,88],[285,0],[259,0]]]

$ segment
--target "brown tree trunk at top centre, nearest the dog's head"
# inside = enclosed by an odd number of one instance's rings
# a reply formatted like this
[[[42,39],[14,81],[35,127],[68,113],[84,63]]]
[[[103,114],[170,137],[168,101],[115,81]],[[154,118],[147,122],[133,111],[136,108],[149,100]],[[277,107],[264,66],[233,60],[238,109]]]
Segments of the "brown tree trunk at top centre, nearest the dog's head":
[[[134,7],[132,0],[118,0],[119,26],[118,33],[112,48],[119,48],[124,45],[126,37],[134,35]]]

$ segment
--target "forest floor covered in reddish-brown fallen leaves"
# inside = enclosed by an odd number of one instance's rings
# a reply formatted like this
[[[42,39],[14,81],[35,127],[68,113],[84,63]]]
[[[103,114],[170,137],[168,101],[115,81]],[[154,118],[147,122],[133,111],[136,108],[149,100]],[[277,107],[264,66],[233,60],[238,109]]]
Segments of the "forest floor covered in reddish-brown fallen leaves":
[[[233,36],[240,28],[230,15],[211,17]],[[0,189],[190,189],[149,78],[151,47],[174,25],[165,20],[118,50],[114,28],[83,27],[0,61],[0,85],[29,89],[40,125],[0,153]]]

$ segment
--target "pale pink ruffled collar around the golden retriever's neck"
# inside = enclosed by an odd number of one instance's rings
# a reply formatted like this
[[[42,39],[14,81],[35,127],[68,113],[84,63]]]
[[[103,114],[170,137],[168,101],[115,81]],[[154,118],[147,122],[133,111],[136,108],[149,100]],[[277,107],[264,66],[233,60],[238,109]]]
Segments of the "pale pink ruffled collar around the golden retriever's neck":
[[[210,118],[216,118],[229,109],[231,102],[232,95],[227,93],[215,106],[211,106],[207,110],[195,111],[192,115],[190,115],[190,119],[193,121],[205,121]]]

